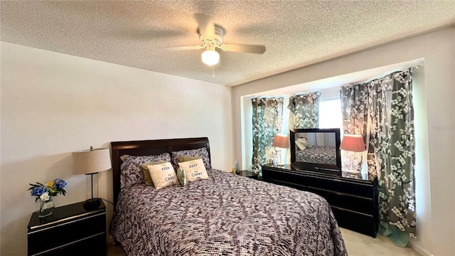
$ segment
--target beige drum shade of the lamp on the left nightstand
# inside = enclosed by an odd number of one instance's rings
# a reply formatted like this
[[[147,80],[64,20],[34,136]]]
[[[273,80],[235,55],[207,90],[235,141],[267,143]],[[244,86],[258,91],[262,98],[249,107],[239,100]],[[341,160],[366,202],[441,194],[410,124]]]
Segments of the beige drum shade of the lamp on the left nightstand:
[[[73,173],[94,174],[112,168],[109,149],[93,149],[73,152]]]

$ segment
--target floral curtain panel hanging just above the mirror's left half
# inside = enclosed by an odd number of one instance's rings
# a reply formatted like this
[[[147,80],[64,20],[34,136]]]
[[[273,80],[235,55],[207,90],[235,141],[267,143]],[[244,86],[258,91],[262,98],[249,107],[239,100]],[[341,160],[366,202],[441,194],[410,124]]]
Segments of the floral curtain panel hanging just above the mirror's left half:
[[[319,102],[321,102],[321,92],[294,95],[289,98],[288,108],[294,114],[294,128],[319,127]]]

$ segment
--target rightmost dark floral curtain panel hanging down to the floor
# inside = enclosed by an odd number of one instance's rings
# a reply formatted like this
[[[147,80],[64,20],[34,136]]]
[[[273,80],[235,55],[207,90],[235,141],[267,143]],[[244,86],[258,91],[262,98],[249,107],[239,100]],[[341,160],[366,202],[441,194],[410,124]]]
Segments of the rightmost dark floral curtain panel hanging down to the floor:
[[[370,146],[378,156],[380,220],[415,237],[412,70],[369,83]]]

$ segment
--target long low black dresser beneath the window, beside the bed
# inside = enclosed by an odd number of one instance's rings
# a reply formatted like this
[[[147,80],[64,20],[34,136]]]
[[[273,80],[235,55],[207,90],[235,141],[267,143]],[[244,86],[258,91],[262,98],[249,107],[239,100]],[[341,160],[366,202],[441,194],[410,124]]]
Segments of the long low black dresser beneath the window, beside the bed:
[[[290,165],[262,166],[262,181],[310,191],[326,199],[341,228],[375,238],[378,233],[378,179],[365,181],[296,170]]]

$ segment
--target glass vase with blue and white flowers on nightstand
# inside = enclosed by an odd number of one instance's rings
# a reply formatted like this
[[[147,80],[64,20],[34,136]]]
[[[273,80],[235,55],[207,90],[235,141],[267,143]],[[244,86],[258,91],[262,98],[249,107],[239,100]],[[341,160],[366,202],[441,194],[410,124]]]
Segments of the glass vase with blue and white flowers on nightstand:
[[[55,178],[54,181],[49,181],[47,184],[35,183],[29,184],[31,187],[28,188],[31,191],[31,196],[35,196],[35,202],[38,205],[39,218],[44,218],[52,215],[52,209],[55,207],[53,203],[53,197],[61,193],[65,196],[66,182],[63,179]]]

